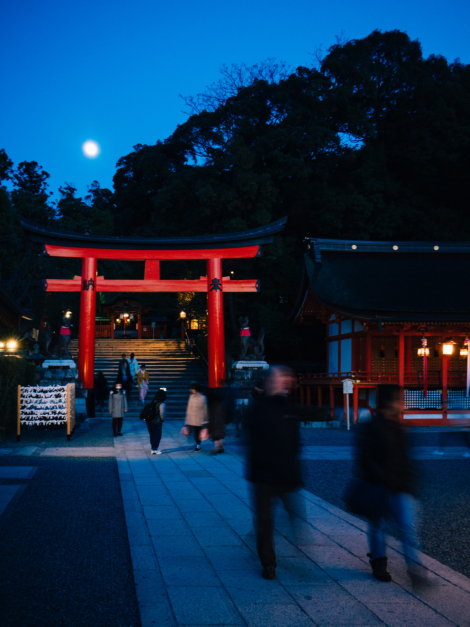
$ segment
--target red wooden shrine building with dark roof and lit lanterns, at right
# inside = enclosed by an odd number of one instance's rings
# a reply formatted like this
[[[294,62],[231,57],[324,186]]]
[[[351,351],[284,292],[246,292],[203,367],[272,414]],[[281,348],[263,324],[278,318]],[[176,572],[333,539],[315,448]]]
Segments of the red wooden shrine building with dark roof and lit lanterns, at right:
[[[333,418],[353,379],[357,422],[395,383],[403,424],[469,425],[470,242],[311,238],[306,248],[295,324],[326,324],[327,372],[300,374],[302,402],[329,404]]]

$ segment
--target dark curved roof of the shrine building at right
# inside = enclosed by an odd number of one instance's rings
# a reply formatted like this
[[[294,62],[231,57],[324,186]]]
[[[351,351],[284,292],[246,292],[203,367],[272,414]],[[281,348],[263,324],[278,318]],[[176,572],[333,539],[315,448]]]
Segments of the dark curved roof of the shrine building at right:
[[[382,322],[470,322],[470,242],[306,243],[311,290],[327,308]]]

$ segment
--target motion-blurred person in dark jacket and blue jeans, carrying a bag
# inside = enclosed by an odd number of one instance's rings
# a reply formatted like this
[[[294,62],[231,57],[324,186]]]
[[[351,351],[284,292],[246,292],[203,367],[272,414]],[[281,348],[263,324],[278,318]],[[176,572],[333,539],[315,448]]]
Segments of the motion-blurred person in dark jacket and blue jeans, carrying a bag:
[[[383,385],[379,389],[377,416],[362,426],[358,440],[358,467],[360,478],[382,484],[388,497],[389,513],[395,520],[403,543],[405,561],[412,581],[419,583],[422,576],[417,567],[419,546],[415,527],[417,503],[414,493],[414,473],[408,456],[405,434],[400,428],[400,387]],[[369,520],[367,554],[375,579],[391,581],[385,555],[385,514],[377,512]]]

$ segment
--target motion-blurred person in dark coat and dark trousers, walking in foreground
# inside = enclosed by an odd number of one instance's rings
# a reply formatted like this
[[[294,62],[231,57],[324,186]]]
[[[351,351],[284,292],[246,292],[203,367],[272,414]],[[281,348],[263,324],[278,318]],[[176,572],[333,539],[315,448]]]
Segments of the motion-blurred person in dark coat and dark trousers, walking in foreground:
[[[265,379],[264,394],[257,393],[248,406],[251,432],[248,478],[256,491],[257,548],[264,579],[276,579],[271,503],[281,497],[288,506],[288,495],[301,485],[298,464],[299,424],[286,395],[293,371],[273,366]]]

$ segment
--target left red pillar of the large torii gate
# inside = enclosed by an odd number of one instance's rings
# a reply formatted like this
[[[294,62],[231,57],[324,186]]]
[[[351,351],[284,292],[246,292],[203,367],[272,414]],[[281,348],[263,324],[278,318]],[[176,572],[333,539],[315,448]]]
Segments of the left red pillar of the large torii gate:
[[[95,386],[95,318],[97,316],[97,260],[81,262],[80,330],[78,332],[78,378],[84,389]]]

